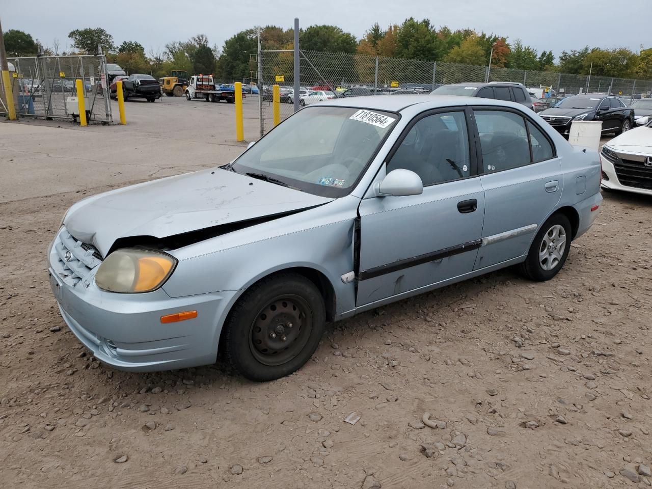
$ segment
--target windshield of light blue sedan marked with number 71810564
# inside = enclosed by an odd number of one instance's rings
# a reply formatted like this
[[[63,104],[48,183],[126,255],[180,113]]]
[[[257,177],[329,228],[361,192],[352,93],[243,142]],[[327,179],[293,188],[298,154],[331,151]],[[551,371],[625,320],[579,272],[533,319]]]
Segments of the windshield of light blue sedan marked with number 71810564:
[[[231,166],[326,197],[351,191],[398,114],[347,107],[304,108],[276,126]]]

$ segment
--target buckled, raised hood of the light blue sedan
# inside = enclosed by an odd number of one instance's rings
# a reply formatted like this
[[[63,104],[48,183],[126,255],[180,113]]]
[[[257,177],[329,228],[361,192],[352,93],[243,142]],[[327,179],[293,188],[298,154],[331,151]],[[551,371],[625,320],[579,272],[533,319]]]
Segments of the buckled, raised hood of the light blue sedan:
[[[70,207],[64,224],[106,256],[123,237],[164,238],[332,200],[217,168],[92,196]]]

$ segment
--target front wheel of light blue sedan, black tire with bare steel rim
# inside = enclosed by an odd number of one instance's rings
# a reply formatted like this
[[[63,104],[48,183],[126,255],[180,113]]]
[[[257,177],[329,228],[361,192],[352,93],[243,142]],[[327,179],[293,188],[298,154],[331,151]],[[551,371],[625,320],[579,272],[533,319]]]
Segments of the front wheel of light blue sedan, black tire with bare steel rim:
[[[312,357],[325,321],[323,297],[308,278],[293,273],[264,278],[233,306],[224,325],[226,354],[250,380],[288,376]]]

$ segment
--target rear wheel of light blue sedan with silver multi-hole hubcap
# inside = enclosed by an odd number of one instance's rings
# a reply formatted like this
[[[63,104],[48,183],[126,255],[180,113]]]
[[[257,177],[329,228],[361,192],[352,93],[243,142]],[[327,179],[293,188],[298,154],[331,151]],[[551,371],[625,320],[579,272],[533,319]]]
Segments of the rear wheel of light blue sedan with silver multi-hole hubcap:
[[[544,282],[553,278],[566,263],[571,250],[571,222],[557,213],[546,222],[534,238],[521,273],[530,280]]]

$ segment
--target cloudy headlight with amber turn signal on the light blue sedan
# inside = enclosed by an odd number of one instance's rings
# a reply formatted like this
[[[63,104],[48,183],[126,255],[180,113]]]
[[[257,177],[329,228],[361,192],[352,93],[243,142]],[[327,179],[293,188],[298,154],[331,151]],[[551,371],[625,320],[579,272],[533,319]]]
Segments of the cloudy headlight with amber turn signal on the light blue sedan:
[[[165,253],[123,248],[102,261],[95,283],[110,292],[150,292],[168,280],[176,265],[177,259]]]

